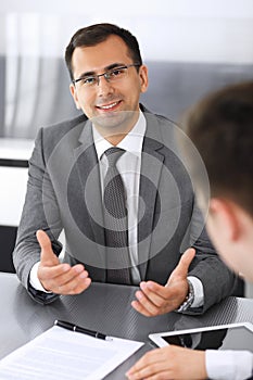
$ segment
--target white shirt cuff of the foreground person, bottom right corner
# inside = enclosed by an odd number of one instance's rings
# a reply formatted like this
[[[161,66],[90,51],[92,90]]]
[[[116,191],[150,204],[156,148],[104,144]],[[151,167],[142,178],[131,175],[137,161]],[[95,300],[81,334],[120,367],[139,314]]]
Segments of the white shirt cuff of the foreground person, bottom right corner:
[[[206,350],[205,367],[213,380],[243,380],[252,376],[253,354],[249,351]]]

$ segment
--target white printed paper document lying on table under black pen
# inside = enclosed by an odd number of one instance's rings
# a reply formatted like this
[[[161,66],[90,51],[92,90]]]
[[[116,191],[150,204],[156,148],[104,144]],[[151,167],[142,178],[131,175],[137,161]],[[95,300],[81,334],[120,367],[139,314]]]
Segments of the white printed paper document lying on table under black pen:
[[[144,343],[54,326],[0,360],[1,380],[100,380]]]

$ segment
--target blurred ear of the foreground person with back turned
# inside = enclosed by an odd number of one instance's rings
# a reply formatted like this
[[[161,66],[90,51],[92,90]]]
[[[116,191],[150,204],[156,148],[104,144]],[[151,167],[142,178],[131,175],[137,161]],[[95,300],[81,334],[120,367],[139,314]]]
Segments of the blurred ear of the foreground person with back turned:
[[[240,236],[240,223],[233,202],[213,198],[210,201],[210,220],[226,239],[237,241]]]

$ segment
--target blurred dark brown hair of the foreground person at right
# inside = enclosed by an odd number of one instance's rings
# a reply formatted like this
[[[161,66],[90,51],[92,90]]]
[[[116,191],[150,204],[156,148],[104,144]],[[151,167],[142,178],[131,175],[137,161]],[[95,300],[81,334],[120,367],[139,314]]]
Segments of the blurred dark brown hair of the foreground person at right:
[[[253,81],[207,96],[182,123],[205,164],[211,197],[230,199],[253,216]]]

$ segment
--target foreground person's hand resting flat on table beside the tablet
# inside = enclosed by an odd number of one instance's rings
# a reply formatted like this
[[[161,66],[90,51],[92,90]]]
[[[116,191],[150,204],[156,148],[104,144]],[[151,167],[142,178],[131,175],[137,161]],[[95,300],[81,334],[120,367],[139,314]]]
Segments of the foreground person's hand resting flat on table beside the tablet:
[[[129,380],[207,379],[205,352],[168,345],[142,356],[127,372]]]

